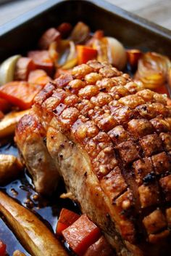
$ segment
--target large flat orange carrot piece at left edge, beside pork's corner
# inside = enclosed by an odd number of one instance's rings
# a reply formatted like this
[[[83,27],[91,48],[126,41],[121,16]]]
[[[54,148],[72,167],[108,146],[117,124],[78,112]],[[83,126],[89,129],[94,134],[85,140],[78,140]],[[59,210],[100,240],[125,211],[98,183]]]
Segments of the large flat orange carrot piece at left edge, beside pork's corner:
[[[40,84],[11,81],[0,87],[0,97],[24,110],[31,107],[34,97],[41,89]]]

